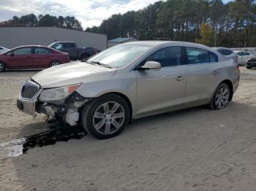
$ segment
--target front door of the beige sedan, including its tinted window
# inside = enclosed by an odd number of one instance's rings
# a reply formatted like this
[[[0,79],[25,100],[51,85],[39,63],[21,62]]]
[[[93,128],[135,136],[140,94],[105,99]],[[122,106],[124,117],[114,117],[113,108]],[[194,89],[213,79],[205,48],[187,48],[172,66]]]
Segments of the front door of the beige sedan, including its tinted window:
[[[186,66],[181,63],[181,47],[163,47],[149,55],[147,61],[161,63],[159,71],[137,70],[137,115],[165,112],[184,104]]]

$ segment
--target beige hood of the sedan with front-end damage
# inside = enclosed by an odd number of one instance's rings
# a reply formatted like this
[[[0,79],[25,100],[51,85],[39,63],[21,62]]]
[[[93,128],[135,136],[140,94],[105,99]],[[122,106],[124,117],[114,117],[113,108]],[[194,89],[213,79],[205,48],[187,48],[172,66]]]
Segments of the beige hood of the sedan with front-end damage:
[[[84,62],[65,63],[39,71],[31,79],[42,88],[61,87],[91,80],[112,77],[116,69],[92,65]]]

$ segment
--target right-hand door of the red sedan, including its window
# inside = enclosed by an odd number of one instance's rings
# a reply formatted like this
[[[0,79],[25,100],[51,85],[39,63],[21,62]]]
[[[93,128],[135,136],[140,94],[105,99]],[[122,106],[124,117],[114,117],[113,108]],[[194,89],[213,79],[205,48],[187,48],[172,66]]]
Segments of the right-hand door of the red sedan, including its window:
[[[45,69],[50,66],[50,61],[52,61],[52,50],[45,47],[35,47],[34,48],[34,67],[36,69]]]

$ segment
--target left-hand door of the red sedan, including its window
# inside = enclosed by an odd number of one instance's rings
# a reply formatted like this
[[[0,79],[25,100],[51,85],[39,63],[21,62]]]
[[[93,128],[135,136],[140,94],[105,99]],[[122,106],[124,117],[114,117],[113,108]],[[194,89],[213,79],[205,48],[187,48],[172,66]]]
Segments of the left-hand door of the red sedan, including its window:
[[[10,69],[29,69],[32,63],[31,47],[21,47],[7,53],[7,64]]]

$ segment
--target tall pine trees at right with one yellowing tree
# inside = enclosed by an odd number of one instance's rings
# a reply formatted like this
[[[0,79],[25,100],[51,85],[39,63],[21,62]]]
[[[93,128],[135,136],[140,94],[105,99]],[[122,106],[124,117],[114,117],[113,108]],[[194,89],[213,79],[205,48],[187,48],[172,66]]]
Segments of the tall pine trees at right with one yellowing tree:
[[[255,47],[255,0],[167,0],[144,9],[112,15],[86,31],[108,39],[200,42],[208,46]],[[216,38],[215,38],[216,36]],[[215,43],[214,43],[215,42]]]

